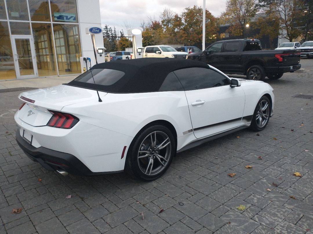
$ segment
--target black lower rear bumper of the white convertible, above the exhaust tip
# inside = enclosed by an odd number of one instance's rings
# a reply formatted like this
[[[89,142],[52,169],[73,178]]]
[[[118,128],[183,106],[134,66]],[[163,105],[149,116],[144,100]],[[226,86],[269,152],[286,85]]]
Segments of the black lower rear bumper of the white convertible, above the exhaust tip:
[[[34,162],[40,163],[48,171],[64,170],[74,175],[96,175],[115,172],[92,172],[72,154],[59,152],[45,147],[34,147],[16,131],[16,141],[24,153]]]

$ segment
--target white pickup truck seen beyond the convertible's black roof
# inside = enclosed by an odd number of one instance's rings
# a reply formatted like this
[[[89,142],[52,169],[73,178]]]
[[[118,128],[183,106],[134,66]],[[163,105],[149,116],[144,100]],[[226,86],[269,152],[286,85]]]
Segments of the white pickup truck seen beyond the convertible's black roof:
[[[142,57],[143,58],[180,58],[186,59],[186,52],[178,52],[172,46],[157,45],[146,46]]]

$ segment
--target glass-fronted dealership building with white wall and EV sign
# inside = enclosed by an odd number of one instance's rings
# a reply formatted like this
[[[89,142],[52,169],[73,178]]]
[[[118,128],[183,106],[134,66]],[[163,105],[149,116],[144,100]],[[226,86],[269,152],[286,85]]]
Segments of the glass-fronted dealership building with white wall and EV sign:
[[[99,1],[0,0],[0,80],[80,74],[103,52]]]

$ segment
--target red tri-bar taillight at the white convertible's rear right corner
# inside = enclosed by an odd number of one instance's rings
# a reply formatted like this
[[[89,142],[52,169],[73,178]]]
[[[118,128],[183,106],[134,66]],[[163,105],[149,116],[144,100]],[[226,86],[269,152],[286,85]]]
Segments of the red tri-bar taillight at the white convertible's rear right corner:
[[[52,117],[49,120],[47,126],[50,127],[70,129],[74,127],[74,125],[79,121],[76,116],[71,114],[54,110],[49,110],[49,112],[52,114]]]

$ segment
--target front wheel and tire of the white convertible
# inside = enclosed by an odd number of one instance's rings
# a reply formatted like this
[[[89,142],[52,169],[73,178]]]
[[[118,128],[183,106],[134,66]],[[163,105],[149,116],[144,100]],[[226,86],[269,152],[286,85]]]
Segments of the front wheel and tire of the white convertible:
[[[255,107],[250,128],[254,131],[262,131],[269,122],[271,102],[263,96]]]

